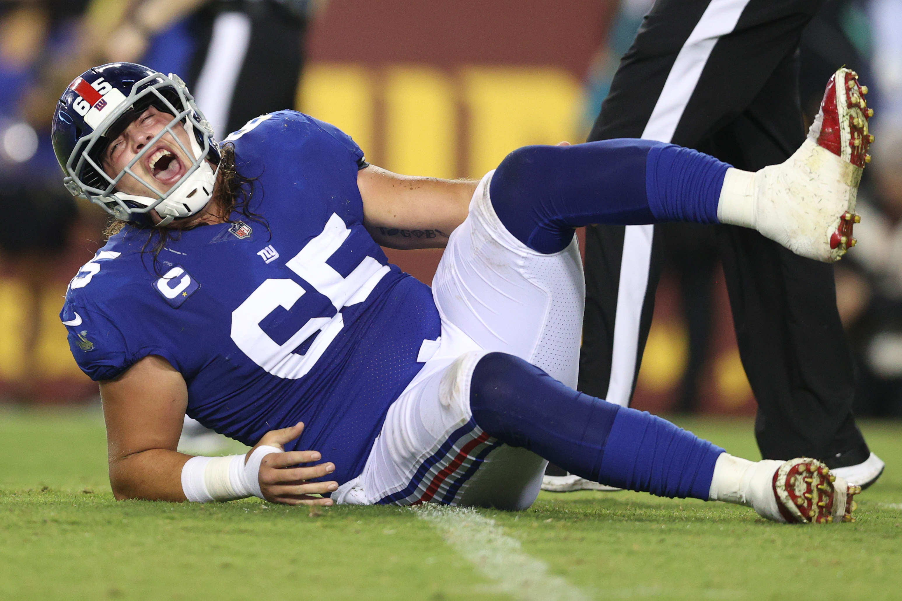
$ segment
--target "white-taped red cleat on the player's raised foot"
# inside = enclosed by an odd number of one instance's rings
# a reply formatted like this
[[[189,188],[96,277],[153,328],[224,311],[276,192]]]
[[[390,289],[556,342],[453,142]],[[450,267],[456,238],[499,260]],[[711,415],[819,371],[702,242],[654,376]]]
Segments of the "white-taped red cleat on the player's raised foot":
[[[855,200],[873,141],[867,91],[854,71],[836,71],[805,142],[789,159],[755,173],[727,171],[721,222],[755,228],[796,254],[828,263],[855,246]]]

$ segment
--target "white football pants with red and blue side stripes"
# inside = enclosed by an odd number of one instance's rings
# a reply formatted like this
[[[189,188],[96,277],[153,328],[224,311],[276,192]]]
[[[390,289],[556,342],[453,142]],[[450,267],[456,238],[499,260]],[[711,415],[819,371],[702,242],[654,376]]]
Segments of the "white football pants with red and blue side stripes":
[[[502,351],[576,386],[585,284],[576,237],[560,252],[529,249],[508,232],[489,198],[489,172],[452,234],[432,281],[442,335],[426,365],[389,408],[363,473],[336,503],[525,509],[547,461],[496,441],[474,423],[470,376]]]

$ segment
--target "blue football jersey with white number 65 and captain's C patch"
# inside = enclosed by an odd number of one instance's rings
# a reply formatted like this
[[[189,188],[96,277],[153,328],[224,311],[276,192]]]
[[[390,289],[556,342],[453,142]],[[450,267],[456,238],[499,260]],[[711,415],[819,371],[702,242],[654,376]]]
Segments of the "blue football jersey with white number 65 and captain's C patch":
[[[281,111],[226,141],[256,178],[260,219],[181,232],[156,261],[150,232],[124,228],[69,284],[69,346],[95,380],[165,358],[188,383],[188,414],[248,445],[304,422],[286,450],[322,452],[327,479],[344,482],[439,336],[431,291],[364,229],[364,154],[345,133]]]

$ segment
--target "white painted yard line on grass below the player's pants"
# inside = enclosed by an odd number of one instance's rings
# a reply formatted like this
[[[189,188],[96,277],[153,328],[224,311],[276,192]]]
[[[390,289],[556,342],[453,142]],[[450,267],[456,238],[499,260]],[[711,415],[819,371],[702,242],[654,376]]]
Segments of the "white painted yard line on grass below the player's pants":
[[[435,525],[445,540],[477,569],[522,601],[585,601],[588,596],[565,578],[548,574],[548,564],[520,551],[494,520],[469,507],[418,505],[417,516]]]

